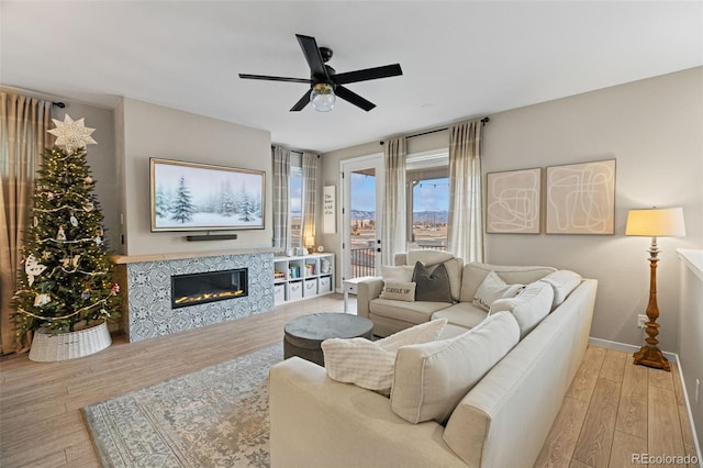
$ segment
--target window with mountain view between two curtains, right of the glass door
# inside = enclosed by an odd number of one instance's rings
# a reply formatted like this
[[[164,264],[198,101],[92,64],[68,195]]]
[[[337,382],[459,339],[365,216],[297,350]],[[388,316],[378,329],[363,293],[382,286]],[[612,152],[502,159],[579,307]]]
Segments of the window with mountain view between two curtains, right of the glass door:
[[[446,151],[409,155],[408,238],[420,248],[447,248],[449,221],[449,155]]]

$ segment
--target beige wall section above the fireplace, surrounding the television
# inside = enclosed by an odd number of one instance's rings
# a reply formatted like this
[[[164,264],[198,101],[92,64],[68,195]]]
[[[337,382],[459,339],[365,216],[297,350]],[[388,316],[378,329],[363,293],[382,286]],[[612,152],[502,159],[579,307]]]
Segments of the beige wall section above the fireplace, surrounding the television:
[[[270,247],[271,137],[270,132],[215,119],[123,99],[115,109],[115,135],[122,190],[125,243],[122,254],[223,250]],[[189,243],[192,233],[150,232],[149,158],[198,161],[265,170],[265,229],[236,231],[236,241]]]

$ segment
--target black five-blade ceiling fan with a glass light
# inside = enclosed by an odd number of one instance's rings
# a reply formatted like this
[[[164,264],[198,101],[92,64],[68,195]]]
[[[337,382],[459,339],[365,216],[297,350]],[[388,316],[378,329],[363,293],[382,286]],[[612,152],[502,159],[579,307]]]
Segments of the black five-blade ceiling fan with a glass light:
[[[312,91],[305,91],[303,97],[290,109],[291,112],[303,110],[303,108],[308,105],[308,102],[311,102],[313,108],[320,112],[328,112],[334,108],[335,96],[368,112],[373,109],[376,104],[367,101],[342,85],[394,77],[403,74],[400,64],[337,74],[334,68],[326,65],[332,58],[331,48],[317,47],[317,42],[311,36],[295,34],[295,37],[298,37],[300,48],[302,48],[303,55],[310,66],[310,79],[239,74],[239,78],[245,79],[309,83]]]

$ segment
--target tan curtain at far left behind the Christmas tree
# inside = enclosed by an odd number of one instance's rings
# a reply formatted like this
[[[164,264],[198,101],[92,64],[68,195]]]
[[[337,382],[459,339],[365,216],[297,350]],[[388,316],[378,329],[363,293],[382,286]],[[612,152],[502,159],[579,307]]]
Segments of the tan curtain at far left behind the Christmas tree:
[[[52,102],[0,90],[0,352],[29,349],[15,341],[10,300],[21,266],[23,232],[32,208],[36,170],[44,148],[54,144]]]

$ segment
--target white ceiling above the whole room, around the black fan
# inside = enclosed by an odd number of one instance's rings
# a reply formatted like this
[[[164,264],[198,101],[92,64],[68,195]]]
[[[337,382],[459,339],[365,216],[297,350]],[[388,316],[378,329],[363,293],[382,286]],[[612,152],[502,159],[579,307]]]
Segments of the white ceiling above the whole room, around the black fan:
[[[127,97],[328,152],[703,65],[701,1],[4,1],[0,83],[113,107]],[[289,112],[308,78],[294,34],[337,73],[400,63]],[[75,119],[80,115],[72,115]],[[87,123],[90,125],[90,123]]]

